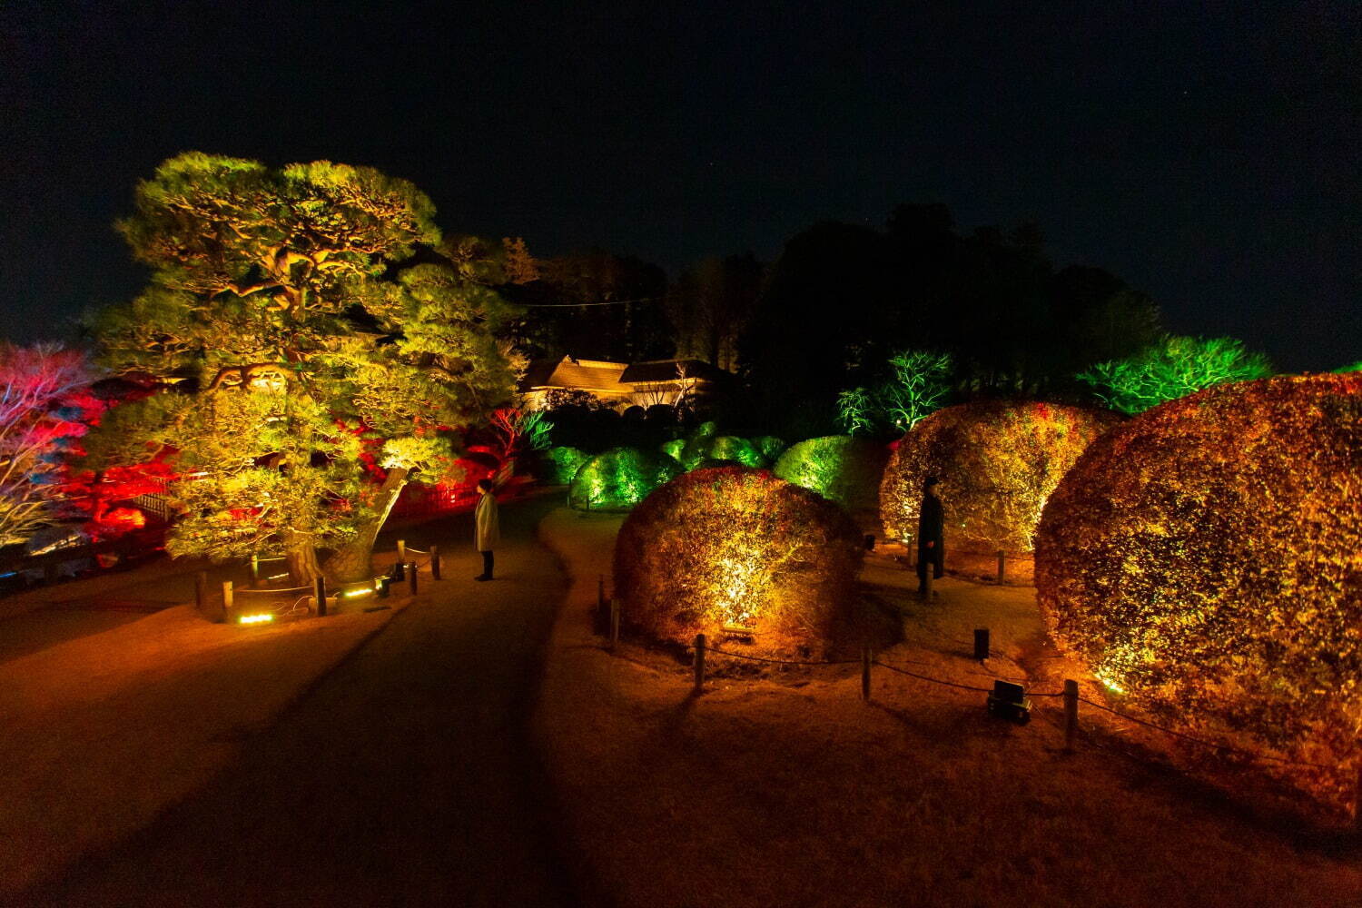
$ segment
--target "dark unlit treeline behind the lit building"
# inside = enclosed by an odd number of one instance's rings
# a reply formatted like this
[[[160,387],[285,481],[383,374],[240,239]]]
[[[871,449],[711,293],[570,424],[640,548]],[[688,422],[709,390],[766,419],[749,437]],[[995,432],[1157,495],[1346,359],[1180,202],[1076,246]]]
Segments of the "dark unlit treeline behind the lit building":
[[[1148,295],[1103,268],[1057,268],[1035,225],[963,233],[943,204],[899,206],[884,229],[823,222],[768,265],[708,257],[670,285],[602,250],[534,260],[520,242],[508,259],[531,263],[508,267],[507,287],[535,306],[531,355],[703,359],[742,377],[735,412],[772,430],[831,430],[838,392],[883,380],[904,348],[949,351],[964,395],[1075,396],[1075,373],[1163,334]],[[572,305],[614,299],[644,302]]]

